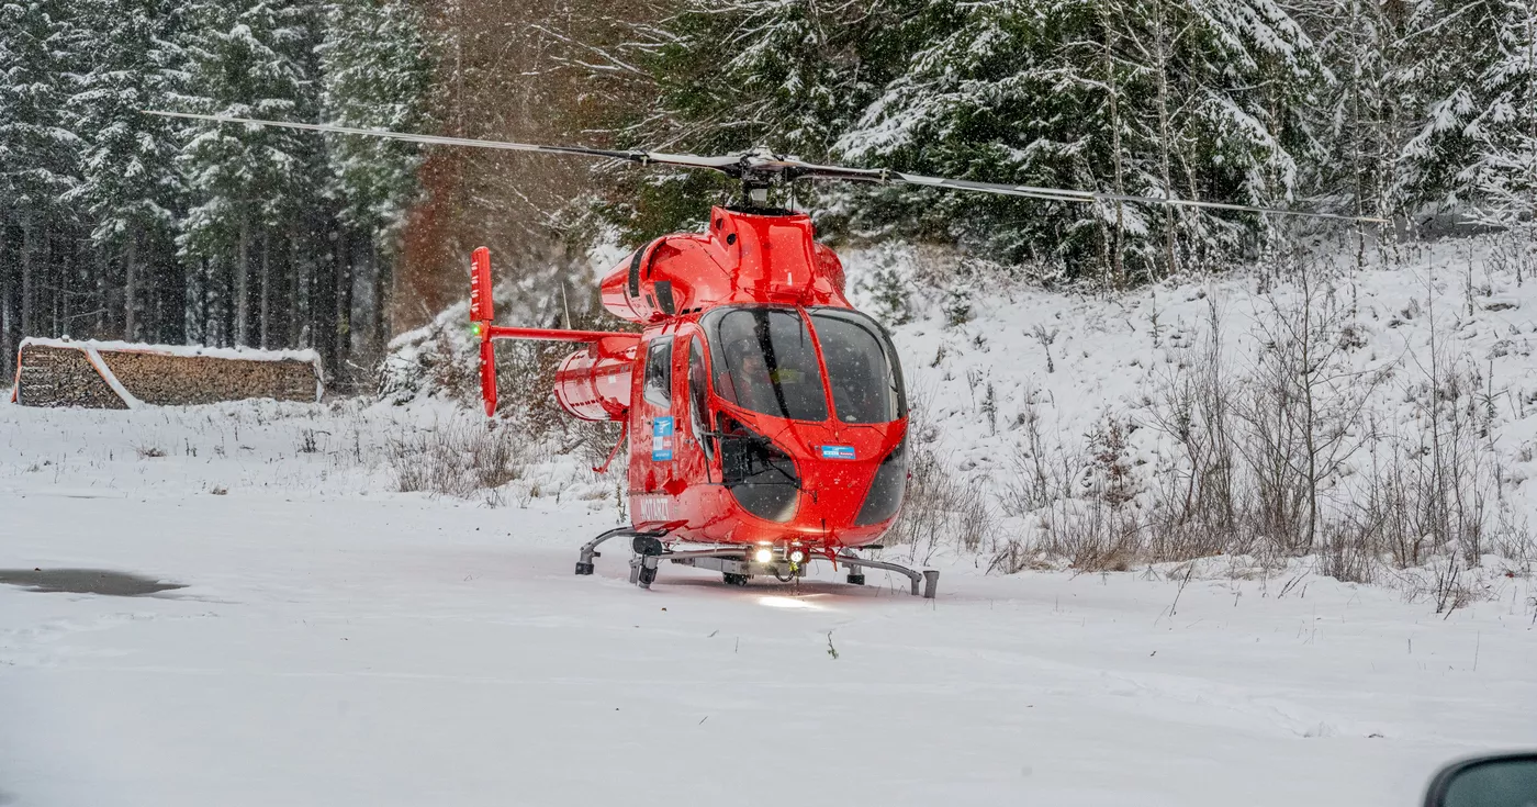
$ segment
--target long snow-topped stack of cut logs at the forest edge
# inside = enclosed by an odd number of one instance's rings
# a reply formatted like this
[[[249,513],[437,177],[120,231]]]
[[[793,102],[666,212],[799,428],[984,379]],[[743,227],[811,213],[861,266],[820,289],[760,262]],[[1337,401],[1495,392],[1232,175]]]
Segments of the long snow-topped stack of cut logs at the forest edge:
[[[321,395],[320,363],[306,350],[26,340],[17,358],[14,397],[23,406],[131,409]]]

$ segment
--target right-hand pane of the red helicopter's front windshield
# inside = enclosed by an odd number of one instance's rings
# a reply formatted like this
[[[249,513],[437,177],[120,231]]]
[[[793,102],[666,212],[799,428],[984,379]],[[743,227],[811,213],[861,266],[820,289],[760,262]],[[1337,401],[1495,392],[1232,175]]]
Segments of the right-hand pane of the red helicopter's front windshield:
[[[822,343],[839,421],[891,423],[907,415],[902,367],[875,320],[848,309],[816,309],[812,324]]]

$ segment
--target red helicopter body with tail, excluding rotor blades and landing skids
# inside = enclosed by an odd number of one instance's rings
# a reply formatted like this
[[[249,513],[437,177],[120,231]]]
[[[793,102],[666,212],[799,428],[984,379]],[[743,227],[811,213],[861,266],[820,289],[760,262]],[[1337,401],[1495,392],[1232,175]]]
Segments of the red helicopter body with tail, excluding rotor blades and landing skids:
[[[486,260],[478,251],[472,318],[487,410],[490,340],[589,341],[561,363],[555,395],[573,417],[626,426],[636,532],[832,556],[895,521],[907,484],[901,364],[885,330],[848,304],[842,264],[804,214],[715,208],[707,232],[635,251],[601,287],[639,334],[490,326]]]

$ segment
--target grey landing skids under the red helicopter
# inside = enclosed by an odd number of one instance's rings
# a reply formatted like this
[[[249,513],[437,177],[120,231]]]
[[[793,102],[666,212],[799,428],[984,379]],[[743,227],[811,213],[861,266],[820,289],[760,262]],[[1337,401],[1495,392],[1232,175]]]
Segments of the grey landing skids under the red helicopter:
[[[590,575],[593,572],[592,560],[603,556],[598,553],[599,544],[610,538],[627,536],[630,538],[630,547],[635,550],[635,556],[630,558],[630,583],[642,589],[650,589],[652,583],[656,581],[656,569],[664,560],[678,566],[693,566],[695,569],[713,569],[721,572],[727,586],[747,586],[749,580],[759,575],[773,575],[773,578],[781,583],[790,583],[805,575],[805,564],[792,564],[782,558],[759,563],[752,560],[747,549],[741,546],[686,549],[673,552],[662,544],[661,540],[664,535],[667,535],[666,530],[639,532],[629,527],[612,529],[583,544],[581,555],[576,560],[576,573]],[[922,592],[924,599],[933,599],[934,592],[939,587],[939,572],[933,569],[918,572],[895,563],[861,558],[847,552],[838,555],[838,563],[848,567],[848,583],[853,586],[864,586],[865,569],[884,569],[887,572],[905,575],[913,584],[913,596],[918,596],[919,592]]]

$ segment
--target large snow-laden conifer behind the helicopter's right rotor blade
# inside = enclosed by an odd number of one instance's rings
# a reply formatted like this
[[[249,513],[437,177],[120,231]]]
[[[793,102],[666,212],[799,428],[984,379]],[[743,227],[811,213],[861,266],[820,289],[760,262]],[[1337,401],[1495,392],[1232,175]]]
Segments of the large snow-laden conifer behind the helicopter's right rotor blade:
[[[1320,75],[1270,0],[930,3],[908,69],[839,140],[848,160],[962,178],[1286,204]],[[1114,103],[1111,103],[1111,100]],[[1239,251],[1254,218],[885,191],[865,218],[931,221],[1068,275],[1177,271]],[[856,224],[859,221],[856,220]],[[1114,231],[1114,232],[1110,232]]]

